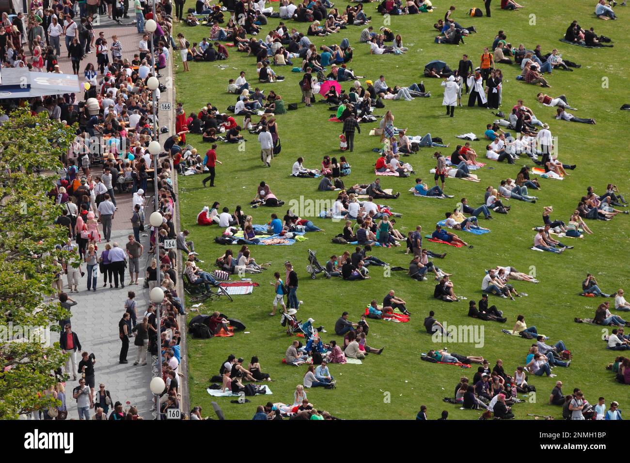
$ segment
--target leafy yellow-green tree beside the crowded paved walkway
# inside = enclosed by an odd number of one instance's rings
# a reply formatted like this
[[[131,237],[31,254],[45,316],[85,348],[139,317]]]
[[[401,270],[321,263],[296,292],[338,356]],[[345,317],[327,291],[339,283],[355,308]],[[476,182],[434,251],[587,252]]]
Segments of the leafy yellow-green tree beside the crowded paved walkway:
[[[73,137],[45,111],[21,108],[0,125],[0,420],[54,405],[41,392],[66,360],[55,331],[69,313],[50,296],[67,230],[54,225],[62,207],[47,195]]]

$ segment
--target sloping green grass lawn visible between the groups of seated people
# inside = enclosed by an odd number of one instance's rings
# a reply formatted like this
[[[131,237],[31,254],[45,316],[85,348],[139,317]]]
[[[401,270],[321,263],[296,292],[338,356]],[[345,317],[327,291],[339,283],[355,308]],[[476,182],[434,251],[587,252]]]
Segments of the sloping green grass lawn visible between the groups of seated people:
[[[316,326],[323,324],[328,333],[323,335],[324,341],[336,339],[334,324],[342,311],[350,312],[350,319],[357,321],[364,311],[365,304],[371,299],[382,300],[390,289],[408,302],[412,312],[411,323],[386,323],[370,321],[369,344],[376,347],[386,346],[380,356],[369,355],[363,365],[331,365],[331,374],[338,380],[333,391],[321,388],[308,391],[308,398],[316,408],[326,409],[342,418],[379,418],[379,419],[411,419],[414,418],[421,404],[428,406],[430,419],[438,418],[443,409],[447,409],[450,417],[473,420],[478,418],[478,411],[460,410],[457,406],[445,404],[443,397],[452,396],[455,384],[461,375],[472,379],[476,365],[472,369],[458,369],[448,365],[436,365],[421,362],[420,353],[431,348],[442,348],[434,345],[430,336],[424,332],[423,318],[428,311],[434,310],[437,319],[449,324],[484,325],[484,346],[474,348],[473,344],[449,345],[449,352],[462,355],[483,355],[490,360],[490,366],[501,358],[508,374],[512,374],[518,365],[523,365],[530,341],[512,338],[502,334],[501,328],[512,328],[518,314],[524,314],[528,326],[536,325],[539,333],[550,336],[550,341],[564,340],[573,352],[573,363],[568,369],[556,368],[554,373],[564,382],[565,394],[580,387],[585,397],[597,403],[599,396],[604,396],[606,403],[617,400],[622,410],[630,406],[628,388],[614,381],[612,373],[605,366],[614,360],[616,354],[606,350],[602,341],[602,330],[588,324],[576,324],[574,317],[592,317],[600,299],[580,297],[581,281],[587,272],[593,273],[605,292],[614,292],[619,287],[627,287],[628,282],[628,222],[630,217],[619,215],[610,222],[589,221],[588,226],[595,232],[585,239],[566,239],[575,245],[575,249],[562,255],[537,253],[530,251],[534,232],[532,227],[542,224],[542,207],[554,206],[554,219],[568,221],[569,215],[585,194],[588,185],[597,192],[603,192],[607,183],[615,183],[621,191],[630,192],[629,171],[624,164],[622,153],[627,151],[627,127],[629,114],[619,111],[622,103],[630,103],[627,92],[627,73],[629,64],[624,43],[627,41],[630,28],[627,25],[627,10],[617,6],[619,21],[601,21],[593,16],[595,1],[557,0],[553,3],[535,0],[523,0],[525,9],[520,11],[501,11],[498,0],[493,2],[491,18],[469,18],[466,12],[472,6],[483,6],[483,2],[457,1],[454,19],[464,26],[473,24],[478,33],[465,38],[466,45],[438,45],[433,43],[435,30],[432,25],[442,18],[450,2],[434,1],[435,12],[412,16],[393,16],[391,29],[401,33],[404,45],[410,47],[405,55],[369,55],[367,45],[358,43],[362,26],[349,26],[341,33],[325,38],[312,40],[316,45],[339,43],[347,37],[355,47],[354,59],[349,67],[365,79],[375,81],[379,74],[386,76],[390,86],[394,84],[409,85],[419,83],[424,65],[433,59],[445,60],[449,66],[457,68],[461,54],[467,53],[474,66],[478,66],[479,55],[483,47],[490,47],[498,30],[504,30],[508,42],[518,46],[524,43],[533,49],[541,43],[543,52],[551,52],[558,47],[565,59],[580,63],[581,69],[575,72],[554,71],[548,77],[553,88],[548,89],[551,96],[566,94],[571,106],[579,108],[575,114],[579,117],[593,117],[597,125],[556,121],[553,118],[554,108],[546,108],[536,101],[539,87],[530,86],[515,80],[520,67],[501,65],[503,70],[503,106],[501,110],[509,113],[517,98],[523,98],[525,105],[530,106],[544,122],[551,126],[551,132],[558,137],[559,158],[565,163],[577,164],[575,171],[564,181],[541,180],[542,190],[536,193],[540,197],[536,204],[516,202],[512,200],[509,215],[495,214],[495,220],[481,220],[481,225],[490,227],[492,232],[484,236],[473,236],[460,232],[459,236],[474,244],[473,249],[456,249],[450,246],[432,244],[429,249],[447,251],[444,260],[437,263],[445,272],[453,273],[452,280],[455,292],[468,299],[481,299],[481,279],[484,269],[494,265],[512,265],[521,271],[534,269],[541,283],[516,282],[515,287],[529,294],[512,302],[491,296],[491,302],[508,317],[508,322],[498,324],[471,319],[467,314],[467,301],[448,304],[433,299],[433,282],[415,282],[405,272],[392,272],[390,278],[384,278],[381,268],[371,268],[371,280],[364,282],[344,282],[338,279],[325,280],[321,275],[311,280],[306,272],[307,249],[318,251],[321,263],[332,253],[341,254],[345,249],[352,252],[352,246],[331,244],[331,238],[341,232],[343,223],[314,218],[313,222],[326,232],[308,233],[305,243],[294,246],[263,247],[253,246],[253,256],[259,263],[271,261],[272,268],[261,275],[253,275],[253,280],[260,283],[252,295],[236,296],[234,302],[214,302],[206,304],[204,311],[221,310],[232,317],[243,320],[250,334],[237,333],[233,338],[215,338],[212,340],[188,341],[188,359],[190,365],[190,399],[192,404],[200,404],[205,411],[211,409],[212,397],[205,392],[209,378],[218,373],[219,365],[227,355],[234,353],[236,357],[244,357],[246,362],[252,355],[258,355],[263,371],[270,373],[274,382],[270,383],[273,396],[250,397],[249,404],[231,404],[228,399],[219,399],[227,418],[250,419],[256,406],[282,401],[290,403],[296,384],[302,383],[305,367],[287,367],[281,363],[287,346],[292,341],[284,333],[278,317],[269,317],[273,299],[273,290],[269,282],[273,280],[273,272],[284,271],[284,261],[290,260],[300,277],[298,298],[304,301],[299,312],[300,319],[313,317]],[[277,9],[277,3],[273,4]],[[338,4],[337,6],[345,6]],[[365,4],[368,15],[372,15],[372,25],[377,29],[383,18],[376,13],[376,3]],[[531,16],[531,14],[535,14]],[[558,42],[563,37],[566,27],[574,19],[581,26],[595,27],[600,35],[612,37],[616,46],[612,49],[585,49]],[[306,23],[285,21],[289,28],[295,27],[306,33]],[[278,20],[270,20],[263,28],[266,31],[278,24]],[[178,25],[177,32],[183,32],[192,42],[200,42],[209,33],[205,26],[189,28]],[[182,71],[179,54],[175,54],[175,84],[177,101],[184,104],[186,113],[198,111],[207,102],[212,102],[220,110],[233,105],[236,98],[226,93],[227,80],[238,77],[242,70],[248,74],[248,80],[257,86],[254,76],[255,59],[230,49],[227,62],[192,63],[192,72]],[[221,70],[218,64],[227,64]],[[301,92],[297,81],[301,75],[290,72],[289,67],[276,69],[287,79],[281,83],[265,84],[265,91],[274,89],[284,97],[285,104],[298,102]],[[547,76],[546,76],[547,77]],[[362,82],[365,82],[362,79]],[[387,101],[386,110],[391,109],[396,118],[397,127],[408,127],[409,135],[424,135],[430,132],[433,136],[442,137],[450,142],[450,148],[442,149],[450,154],[456,142],[455,135],[465,132],[483,134],[485,125],[492,122],[490,110],[481,108],[457,108],[454,118],[444,116],[442,107],[442,88],[438,79],[424,79],[425,86],[432,92],[432,98],[420,98],[411,102]],[[350,83],[343,83],[348,90]],[[466,104],[466,103],[464,103]],[[376,110],[382,115],[386,110]],[[316,104],[313,108],[300,105],[298,111],[290,111],[278,117],[282,154],[273,159],[272,168],[263,168],[260,163],[260,146],[254,135],[246,134],[248,139],[245,151],[238,151],[236,146],[221,144],[217,150],[222,165],[217,167],[217,188],[202,188],[201,176],[180,176],[180,211],[181,224],[188,228],[195,241],[200,258],[205,261],[201,265],[205,270],[212,270],[217,256],[224,252],[224,247],[214,244],[214,237],[219,234],[217,227],[198,227],[195,218],[204,205],[211,205],[215,200],[222,206],[229,207],[232,212],[236,205],[242,205],[246,213],[251,214],[254,223],[267,222],[272,212],[280,217],[287,208],[249,209],[248,204],[255,195],[255,186],[265,180],[272,191],[285,203],[307,199],[331,199],[335,193],[317,191],[317,180],[289,178],[290,168],[298,156],[305,157],[306,167],[316,168],[324,155],[340,156],[345,154],[352,164],[352,174],[343,178],[345,184],[369,183],[374,180],[373,164],[376,154],[372,148],[379,145],[377,137],[368,135],[375,124],[362,126],[362,133],[355,137],[355,151],[341,153],[338,134],[341,124],[328,122],[330,111],[326,105]],[[242,121],[238,120],[239,123]],[[203,154],[209,146],[203,144],[200,136],[190,135],[187,141],[197,147]],[[483,156],[485,142],[473,142],[473,148]],[[418,154],[405,158],[429,185],[433,184],[428,170],[433,168],[433,149],[423,148]],[[423,200],[405,193],[413,186],[413,178],[382,178],[384,188],[402,191],[397,200],[379,200],[390,204],[394,210],[403,213],[398,219],[398,229],[406,234],[416,224],[421,224],[425,232],[430,232],[435,222],[444,218],[444,212],[452,210],[459,198],[469,198],[471,204],[483,202],[484,188],[488,185],[498,186],[501,179],[515,176],[522,164],[533,165],[527,158],[520,159],[516,166],[505,163],[494,163],[494,169],[481,169],[476,173],[481,183],[461,180],[448,180],[446,190],[454,198],[449,200]],[[629,195],[630,196],[630,195]],[[235,253],[239,246],[232,246]],[[401,248],[375,249],[374,254],[391,265],[408,266],[410,256],[403,254]],[[628,288],[626,288],[628,289]],[[623,313],[618,312],[621,316]],[[559,408],[547,404],[556,379],[547,377],[530,378],[530,384],[537,387],[536,401],[518,404],[513,407],[517,419],[527,419],[528,413],[552,414],[558,418]],[[386,400],[389,392],[390,401]]]

